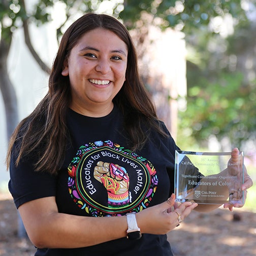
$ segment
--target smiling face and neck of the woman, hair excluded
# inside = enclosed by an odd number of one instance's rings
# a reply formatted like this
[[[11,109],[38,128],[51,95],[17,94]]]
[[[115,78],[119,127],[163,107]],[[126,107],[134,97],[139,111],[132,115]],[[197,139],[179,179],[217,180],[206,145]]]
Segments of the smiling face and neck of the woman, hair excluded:
[[[104,116],[125,81],[127,46],[112,31],[95,28],[84,34],[65,61],[71,109],[88,116]]]

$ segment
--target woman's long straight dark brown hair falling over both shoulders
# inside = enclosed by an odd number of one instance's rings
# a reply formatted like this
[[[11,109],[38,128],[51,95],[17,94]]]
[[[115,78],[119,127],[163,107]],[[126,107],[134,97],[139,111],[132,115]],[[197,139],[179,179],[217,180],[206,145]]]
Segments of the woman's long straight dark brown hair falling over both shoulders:
[[[68,143],[66,115],[71,100],[69,76],[62,76],[63,63],[78,40],[94,28],[105,28],[115,33],[128,49],[125,82],[114,98],[124,115],[124,129],[129,135],[132,150],[141,149],[151,129],[162,135],[150,97],[140,80],[136,50],[127,29],[115,18],[105,14],[86,14],[76,20],[63,35],[49,77],[49,90],[35,110],[16,127],[9,144],[7,167],[15,149],[16,165],[21,158],[36,152],[36,171],[56,174],[60,168]],[[147,126],[145,131],[143,126]],[[18,148],[15,148],[15,142]]]

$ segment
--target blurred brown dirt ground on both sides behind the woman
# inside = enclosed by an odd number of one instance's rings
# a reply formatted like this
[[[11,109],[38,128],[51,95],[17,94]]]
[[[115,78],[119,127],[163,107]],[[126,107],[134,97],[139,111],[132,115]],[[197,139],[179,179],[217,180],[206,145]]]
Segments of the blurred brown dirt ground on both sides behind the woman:
[[[253,256],[256,213],[221,208],[192,212],[168,238],[175,256]],[[32,256],[35,251],[28,239],[17,236],[17,210],[10,195],[0,194],[0,255]]]

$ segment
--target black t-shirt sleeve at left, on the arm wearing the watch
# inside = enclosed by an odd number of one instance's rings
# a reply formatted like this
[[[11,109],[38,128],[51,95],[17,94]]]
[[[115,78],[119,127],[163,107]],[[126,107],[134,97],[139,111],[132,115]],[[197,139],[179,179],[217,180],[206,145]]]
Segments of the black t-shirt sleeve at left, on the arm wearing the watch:
[[[18,167],[14,163],[15,157],[12,154],[9,190],[17,208],[35,199],[55,196],[55,176],[46,172],[36,172],[29,160],[21,161]]]

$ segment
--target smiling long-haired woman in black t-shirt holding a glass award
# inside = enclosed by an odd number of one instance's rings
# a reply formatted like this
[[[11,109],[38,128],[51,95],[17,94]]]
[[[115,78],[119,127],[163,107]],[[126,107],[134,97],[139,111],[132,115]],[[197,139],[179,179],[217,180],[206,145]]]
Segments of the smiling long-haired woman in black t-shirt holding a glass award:
[[[9,189],[36,255],[172,255],[166,234],[197,207],[174,203],[176,149],[125,27],[75,21],[9,146]]]

